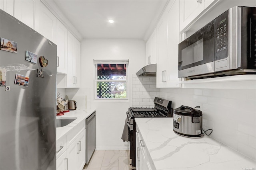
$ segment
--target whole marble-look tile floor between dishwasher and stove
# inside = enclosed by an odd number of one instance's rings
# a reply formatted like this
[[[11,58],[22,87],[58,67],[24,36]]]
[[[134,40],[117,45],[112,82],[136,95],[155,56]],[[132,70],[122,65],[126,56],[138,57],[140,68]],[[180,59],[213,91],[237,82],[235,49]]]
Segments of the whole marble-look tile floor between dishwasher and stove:
[[[84,170],[131,170],[127,150],[95,150]]]

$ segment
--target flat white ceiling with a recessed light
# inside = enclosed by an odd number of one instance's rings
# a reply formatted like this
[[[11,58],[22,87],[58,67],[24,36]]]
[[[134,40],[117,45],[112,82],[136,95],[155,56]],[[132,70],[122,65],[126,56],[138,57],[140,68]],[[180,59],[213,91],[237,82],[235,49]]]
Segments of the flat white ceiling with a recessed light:
[[[148,39],[166,0],[54,0],[82,38]],[[114,20],[114,23],[108,23]]]

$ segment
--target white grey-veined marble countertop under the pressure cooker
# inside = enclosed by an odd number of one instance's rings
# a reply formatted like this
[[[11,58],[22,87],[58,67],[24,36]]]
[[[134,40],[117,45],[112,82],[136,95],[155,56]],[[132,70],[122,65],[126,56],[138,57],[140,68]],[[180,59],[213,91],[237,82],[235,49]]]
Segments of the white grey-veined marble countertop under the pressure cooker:
[[[173,118],[135,118],[157,170],[255,170],[256,162],[204,135],[188,138],[173,131]]]

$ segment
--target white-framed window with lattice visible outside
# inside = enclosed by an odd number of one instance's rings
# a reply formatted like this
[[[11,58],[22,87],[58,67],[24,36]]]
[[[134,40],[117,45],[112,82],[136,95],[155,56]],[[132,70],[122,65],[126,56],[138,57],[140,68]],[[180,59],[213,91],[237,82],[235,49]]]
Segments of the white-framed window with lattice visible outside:
[[[127,99],[128,60],[94,60],[96,66],[96,98]]]

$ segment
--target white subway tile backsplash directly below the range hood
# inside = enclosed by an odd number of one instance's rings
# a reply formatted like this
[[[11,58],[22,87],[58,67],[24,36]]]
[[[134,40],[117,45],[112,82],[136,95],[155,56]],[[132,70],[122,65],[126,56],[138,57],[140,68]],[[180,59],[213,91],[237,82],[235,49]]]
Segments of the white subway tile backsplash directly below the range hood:
[[[156,77],[137,77],[132,74],[132,107],[154,107],[156,96],[160,96]]]

